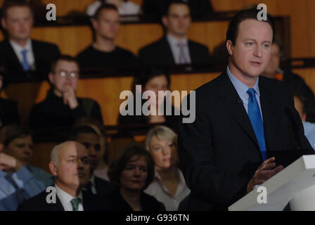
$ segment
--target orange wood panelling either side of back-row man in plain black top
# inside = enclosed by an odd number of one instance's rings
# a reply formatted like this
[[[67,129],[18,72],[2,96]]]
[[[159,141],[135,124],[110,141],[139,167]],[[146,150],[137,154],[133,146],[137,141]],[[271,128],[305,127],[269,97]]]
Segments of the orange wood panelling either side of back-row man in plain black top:
[[[142,46],[155,41],[162,34],[162,27],[158,24],[121,25],[120,34],[115,42],[118,46],[137,54]],[[32,38],[55,43],[62,53],[71,56],[76,56],[93,42],[89,26],[34,27]]]

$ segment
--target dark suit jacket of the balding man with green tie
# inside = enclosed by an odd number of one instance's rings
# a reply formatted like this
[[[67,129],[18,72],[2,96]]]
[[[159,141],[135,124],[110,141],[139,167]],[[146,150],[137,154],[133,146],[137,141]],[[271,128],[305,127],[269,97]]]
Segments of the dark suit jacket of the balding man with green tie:
[[[56,203],[47,203],[46,197],[51,193],[43,191],[33,198],[26,200],[18,207],[18,211],[64,211],[63,205],[56,195]],[[83,209],[84,211],[111,211],[110,202],[100,200],[97,195],[82,191]],[[50,198],[51,199],[51,198]]]

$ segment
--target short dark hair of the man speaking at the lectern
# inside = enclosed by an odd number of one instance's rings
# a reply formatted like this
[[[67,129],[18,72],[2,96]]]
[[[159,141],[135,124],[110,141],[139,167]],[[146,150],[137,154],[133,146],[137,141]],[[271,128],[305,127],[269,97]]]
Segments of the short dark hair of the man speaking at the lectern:
[[[247,19],[257,19],[257,15],[259,10],[257,8],[248,8],[236,13],[236,15],[232,18],[229,23],[229,28],[226,32],[226,41],[232,41],[232,44],[236,44],[236,38],[238,37],[238,28],[240,27],[240,23]],[[267,14],[267,20],[262,20],[263,22],[269,23],[272,28],[273,38],[272,43],[274,43],[274,38],[276,36],[276,27],[274,25],[274,18],[271,15]]]

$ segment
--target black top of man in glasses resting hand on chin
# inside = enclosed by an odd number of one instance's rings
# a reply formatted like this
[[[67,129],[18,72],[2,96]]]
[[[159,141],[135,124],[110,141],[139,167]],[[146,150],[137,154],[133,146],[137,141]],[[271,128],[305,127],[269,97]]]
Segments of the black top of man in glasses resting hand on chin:
[[[41,134],[54,129],[72,127],[82,117],[91,117],[103,124],[101,108],[90,98],[77,98],[78,107],[71,110],[63,103],[63,98],[56,96],[51,89],[41,103],[34,105],[30,112],[30,126]],[[50,131],[49,131],[50,130]]]

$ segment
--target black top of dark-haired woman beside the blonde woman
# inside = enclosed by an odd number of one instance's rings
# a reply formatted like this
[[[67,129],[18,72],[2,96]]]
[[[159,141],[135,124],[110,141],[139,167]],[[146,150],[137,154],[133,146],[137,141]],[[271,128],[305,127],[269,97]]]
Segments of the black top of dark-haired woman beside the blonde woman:
[[[122,198],[120,191],[115,190],[110,195],[111,205],[113,211],[134,211],[131,206]],[[140,204],[142,211],[165,211],[165,206],[163,203],[160,203],[153,196],[148,195],[141,191],[140,193]]]

